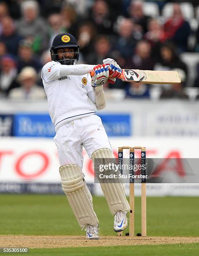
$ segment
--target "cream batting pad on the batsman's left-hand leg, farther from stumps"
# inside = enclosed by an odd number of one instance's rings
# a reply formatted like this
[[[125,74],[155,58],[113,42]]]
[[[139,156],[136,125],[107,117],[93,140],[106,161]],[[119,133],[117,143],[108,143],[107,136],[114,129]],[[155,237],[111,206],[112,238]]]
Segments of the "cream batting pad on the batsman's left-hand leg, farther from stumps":
[[[86,224],[98,225],[91,192],[80,167],[76,164],[65,164],[60,166],[59,172],[63,191],[81,228]]]

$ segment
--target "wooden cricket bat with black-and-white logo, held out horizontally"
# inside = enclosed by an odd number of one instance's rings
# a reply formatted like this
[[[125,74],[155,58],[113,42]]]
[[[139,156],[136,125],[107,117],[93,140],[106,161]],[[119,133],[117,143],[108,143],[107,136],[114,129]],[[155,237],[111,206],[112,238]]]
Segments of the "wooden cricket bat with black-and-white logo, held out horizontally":
[[[90,72],[91,77],[95,74]],[[179,84],[181,83],[178,71],[154,71],[139,69],[122,69],[119,77],[123,82],[142,82],[144,84]]]

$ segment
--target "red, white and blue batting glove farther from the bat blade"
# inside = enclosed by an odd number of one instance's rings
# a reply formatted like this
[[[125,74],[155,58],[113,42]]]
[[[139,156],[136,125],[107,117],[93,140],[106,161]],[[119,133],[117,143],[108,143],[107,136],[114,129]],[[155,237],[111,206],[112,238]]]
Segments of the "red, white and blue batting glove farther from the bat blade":
[[[108,66],[106,64],[98,64],[93,68],[95,74],[91,79],[91,86],[93,88],[105,84],[109,76]]]

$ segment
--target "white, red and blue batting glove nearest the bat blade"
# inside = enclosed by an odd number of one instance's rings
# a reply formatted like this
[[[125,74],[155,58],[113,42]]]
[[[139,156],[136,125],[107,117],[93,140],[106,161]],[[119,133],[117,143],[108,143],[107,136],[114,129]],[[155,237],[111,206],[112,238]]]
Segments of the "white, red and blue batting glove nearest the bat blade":
[[[109,78],[108,82],[111,84],[114,84],[116,82],[116,78],[119,78],[121,76],[121,67],[117,64],[114,59],[104,59],[103,63],[108,66],[109,69]]]

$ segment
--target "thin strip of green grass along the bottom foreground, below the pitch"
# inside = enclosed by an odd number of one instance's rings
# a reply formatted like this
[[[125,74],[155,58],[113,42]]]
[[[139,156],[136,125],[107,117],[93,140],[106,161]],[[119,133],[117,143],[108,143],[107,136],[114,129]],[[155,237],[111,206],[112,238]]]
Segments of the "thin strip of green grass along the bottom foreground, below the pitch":
[[[30,249],[29,253],[16,253],[15,255],[37,256],[198,256],[199,244],[171,244],[171,245],[142,245],[142,246],[100,246],[86,248],[53,248],[53,249]]]

